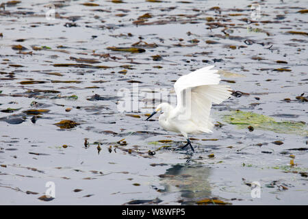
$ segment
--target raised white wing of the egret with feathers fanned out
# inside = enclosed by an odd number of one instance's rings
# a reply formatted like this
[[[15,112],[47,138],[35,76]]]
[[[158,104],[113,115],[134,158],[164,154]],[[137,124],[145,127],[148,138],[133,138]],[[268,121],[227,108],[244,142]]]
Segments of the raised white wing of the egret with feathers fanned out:
[[[231,96],[230,87],[219,85],[220,75],[207,66],[183,75],[175,82],[176,114],[191,120],[200,131],[211,132],[211,103],[219,104]]]

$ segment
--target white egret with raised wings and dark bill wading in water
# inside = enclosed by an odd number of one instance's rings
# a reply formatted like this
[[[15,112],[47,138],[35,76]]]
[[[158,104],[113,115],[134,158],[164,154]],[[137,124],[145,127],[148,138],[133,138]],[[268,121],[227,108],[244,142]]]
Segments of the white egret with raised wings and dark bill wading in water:
[[[190,143],[188,134],[210,133],[214,127],[209,117],[211,104],[220,104],[231,96],[231,88],[219,85],[220,75],[218,70],[207,66],[183,75],[175,82],[175,93],[177,94],[177,106],[172,107],[169,103],[159,104],[155,111],[146,120],[149,120],[157,112],[159,125],[166,131],[181,133],[187,140],[192,151],[194,148]]]

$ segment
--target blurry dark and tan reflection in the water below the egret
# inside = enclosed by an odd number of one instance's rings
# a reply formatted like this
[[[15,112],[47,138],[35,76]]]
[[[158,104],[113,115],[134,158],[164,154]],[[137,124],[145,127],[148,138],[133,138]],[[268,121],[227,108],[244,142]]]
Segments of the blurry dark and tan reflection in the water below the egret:
[[[194,204],[202,198],[211,196],[209,174],[211,168],[177,164],[162,175],[164,192],[179,192],[179,201],[184,205]]]

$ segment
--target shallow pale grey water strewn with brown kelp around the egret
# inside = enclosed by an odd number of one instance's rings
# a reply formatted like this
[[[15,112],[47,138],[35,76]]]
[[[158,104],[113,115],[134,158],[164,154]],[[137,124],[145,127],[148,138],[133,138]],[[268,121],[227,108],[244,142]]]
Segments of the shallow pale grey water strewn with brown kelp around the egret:
[[[308,122],[307,102],[296,99],[308,92],[308,15],[298,12],[307,2],[260,3],[253,23],[252,1],[85,2],[51,1],[54,21],[45,18],[45,1],[0,9],[0,110],[7,110],[0,112],[1,204],[192,205],[218,198],[233,205],[307,205],[307,133],[224,122],[232,110]],[[151,18],[140,21],[146,13]],[[140,38],[148,43],[136,46],[143,53],[107,49],[132,47]],[[27,50],[12,49],[18,44]],[[222,83],[249,95],[212,107],[217,126],[191,136],[196,153],[175,150],[185,139],[162,130],[157,117],[144,121],[153,110],[153,96],[145,95],[165,89],[174,101],[174,80],[210,64]],[[131,80],[142,82],[144,108],[119,112],[118,90],[133,90]],[[33,123],[25,110],[50,111]],[[79,125],[60,129],[54,124],[61,120]],[[127,144],[117,143],[123,138]],[[94,142],[101,143],[99,153]],[[41,201],[48,181],[55,183],[55,198]],[[251,196],[253,181],[261,185],[260,198]]]

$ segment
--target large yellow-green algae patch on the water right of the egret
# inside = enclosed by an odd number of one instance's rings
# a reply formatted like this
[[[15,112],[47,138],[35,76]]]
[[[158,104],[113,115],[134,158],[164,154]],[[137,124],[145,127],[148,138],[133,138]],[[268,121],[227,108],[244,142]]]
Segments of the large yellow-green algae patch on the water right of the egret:
[[[301,121],[277,122],[270,116],[255,114],[253,112],[243,112],[240,110],[231,111],[229,114],[223,115],[222,119],[225,123],[236,125],[240,129],[246,129],[248,126],[253,126],[255,129],[265,131],[308,136],[307,124]]]

